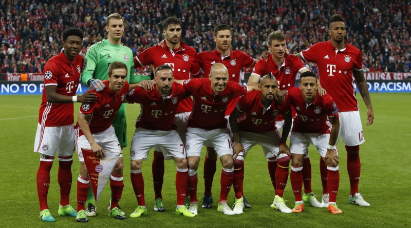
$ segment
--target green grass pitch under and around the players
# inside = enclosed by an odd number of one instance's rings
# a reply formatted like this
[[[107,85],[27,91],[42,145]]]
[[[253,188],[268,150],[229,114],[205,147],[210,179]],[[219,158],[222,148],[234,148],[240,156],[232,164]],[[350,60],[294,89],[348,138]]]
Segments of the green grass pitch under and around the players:
[[[98,203],[98,216],[90,218],[87,226],[124,226],[124,227],[272,227],[272,226],[310,226],[310,227],[404,227],[411,225],[408,204],[411,203],[411,171],[409,169],[409,105],[411,94],[371,94],[375,112],[375,122],[365,126],[366,109],[360,98],[364,136],[366,142],[361,146],[361,182],[360,192],[371,206],[362,208],[348,204],[349,182],[346,171],[346,153],[342,141],[340,148],[340,190],[337,203],[343,211],[342,215],[331,215],[326,209],[306,206],[302,214],[282,214],[273,211],[270,204],[274,199],[274,191],[267,172],[267,161],[260,147],[254,147],[245,160],[244,192],[252,209],[244,214],[225,216],[217,212],[219,196],[219,176],[221,165],[217,165],[214,178],[212,209],[199,209],[195,218],[179,217],[174,214],[176,203],[175,165],[166,161],[166,172],[163,187],[164,213],[152,211],[154,192],[151,174],[152,153],[143,164],[145,179],[145,199],[149,213],[138,219],[128,218],[125,221],[109,219],[107,216],[108,188],[104,190]],[[0,205],[3,213],[0,215],[2,227],[47,227],[47,226],[85,226],[76,223],[74,218],[59,217],[59,185],[57,182],[58,162],[55,161],[51,170],[51,182],[48,204],[55,223],[41,222],[39,219],[39,202],[36,193],[36,172],[39,166],[39,154],[33,153],[34,136],[37,127],[41,96],[0,96],[0,138],[1,155],[0,167]],[[76,113],[79,104],[76,104]],[[138,105],[128,105],[128,139],[131,142],[134,132],[134,122],[139,113]],[[30,117],[31,116],[31,117]],[[34,117],[33,117],[34,116]],[[11,119],[14,118],[14,119]],[[120,201],[126,216],[133,212],[137,205],[129,178],[129,148],[124,150],[124,191]],[[203,153],[204,156],[204,153]],[[317,195],[321,195],[319,172],[319,154],[310,148],[312,163],[312,186]],[[202,163],[203,158],[201,159]],[[72,166],[73,186],[71,190],[71,205],[76,208],[76,179],[80,164],[74,156]],[[202,176],[202,165],[199,169]],[[203,179],[199,178],[198,197],[203,192]],[[233,199],[233,191],[229,200]],[[290,181],[285,190],[284,198],[294,205]],[[319,198],[320,199],[320,198]],[[321,199],[320,199],[321,200]]]

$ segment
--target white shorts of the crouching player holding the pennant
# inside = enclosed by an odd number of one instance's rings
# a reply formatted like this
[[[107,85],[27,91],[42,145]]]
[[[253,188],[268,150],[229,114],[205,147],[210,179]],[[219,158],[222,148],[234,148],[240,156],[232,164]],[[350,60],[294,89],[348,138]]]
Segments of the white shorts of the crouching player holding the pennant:
[[[104,151],[121,154],[120,142],[117,139],[116,134],[114,133],[113,126],[110,126],[109,128],[107,128],[106,130],[102,132],[93,134],[92,136],[94,137],[94,140],[96,140],[97,144],[99,144],[99,146],[103,148]],[[77,151],[77,154],[79,155],[79,161],[84,161],[83,153],[81,151],[82,148],[90,150],[91,146],[86,136],[84,135],[79,136],[79,130],[77,130],[76,131],[76,151]],[[122,154],[120,155],[120,157],[122,157]]]

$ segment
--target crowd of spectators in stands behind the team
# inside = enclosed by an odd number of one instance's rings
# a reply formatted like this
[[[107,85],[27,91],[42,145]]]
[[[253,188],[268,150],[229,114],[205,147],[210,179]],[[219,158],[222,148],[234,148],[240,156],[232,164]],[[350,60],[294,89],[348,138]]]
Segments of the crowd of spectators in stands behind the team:
[[[197,52],[214,50],[213,28],[232,28],[232,48],[255,58],[267,50],[267,36],[282,30],[290,53],[329,39],[328,19],[346,19],[347,42],[363,54],[365,72],[410,72],[411,7],[402,0],[0,0],[0,73],[42,72],[61,52],[62,31],[75,26],[85,34],[82,55],[106,36],[105,18],[126,20],[122,42],[138,54],[162,39],[162,19],[176,15],[182,40]],[[310,65],[315,71],[315,65]]]

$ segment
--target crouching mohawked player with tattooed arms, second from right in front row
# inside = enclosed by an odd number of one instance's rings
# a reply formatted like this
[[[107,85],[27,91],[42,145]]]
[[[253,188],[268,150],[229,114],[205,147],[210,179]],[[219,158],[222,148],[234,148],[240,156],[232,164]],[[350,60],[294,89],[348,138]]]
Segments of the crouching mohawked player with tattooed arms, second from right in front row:
[[[287,172],[276,172],[275,176],[277,180],[285,183],[288,179],[288,166],[291,159],[290,149],[286,145],[288,133],[291,129],[291,107],[287,102],[278,103],[275,101],[278,82],[271,73],[261,78],[260,90],[242,96],[237,103],[236,109],[230,115],[230,125],[234,135],[234,154],[238,154],[236,159],[241,157],[241,160],[244,160],[247,152],[256,144],[260,144],[268,162],[277,160],[280,164],[282,164],[281,162],[285,163],[283,167],[287,167]],[[275,120],[281,114],[284,114],[285,118],[282,136],[275,127]],[[277,169],[279,167],[280,165]],[[238,178],[238,188],[234,188],[235,198],[241,198],[244,176],[234,178]],[[276,193],[273,208],[282,212],[291,212],[285,205],[284,200],[281,202],[278,200],[279,198],[282,199],[283,190],[281,193],[277,193],[279,188],[274,188],[274,190]],[[235,202],[233,212],[241,214],[242,205]]]

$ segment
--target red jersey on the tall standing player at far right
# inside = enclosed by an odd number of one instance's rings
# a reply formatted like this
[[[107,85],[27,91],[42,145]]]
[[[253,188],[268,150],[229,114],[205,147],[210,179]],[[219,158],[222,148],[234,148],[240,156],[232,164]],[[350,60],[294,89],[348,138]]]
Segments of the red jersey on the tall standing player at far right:
[[[346,44],[343,51],[336,51],[331,41],[319,42],[301,52],[304,59],[316,63],[321,86],[335,99],[340,112],[358,111],[353,68],[362,70],[361,51]]]

